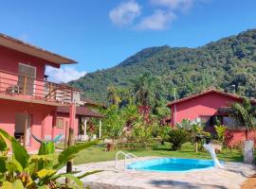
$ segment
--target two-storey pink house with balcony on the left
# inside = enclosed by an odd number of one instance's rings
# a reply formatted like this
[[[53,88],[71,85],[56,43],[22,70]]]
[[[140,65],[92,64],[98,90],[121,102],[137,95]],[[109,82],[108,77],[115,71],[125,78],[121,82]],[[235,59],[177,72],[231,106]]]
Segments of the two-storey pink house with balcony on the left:
[[[39,144],[31,137],[51,140],[69,127],[71,102],[81,103],[80,90],[48,82],[46,66],[60,68],[76,63],[63,56],[0,34],[0,128],[5,129],[27,147]],[[81,104],[79,104],[81,105]],[[79,117],[75,120],[78,134]]]

